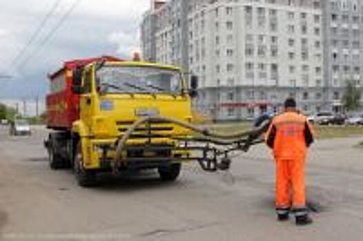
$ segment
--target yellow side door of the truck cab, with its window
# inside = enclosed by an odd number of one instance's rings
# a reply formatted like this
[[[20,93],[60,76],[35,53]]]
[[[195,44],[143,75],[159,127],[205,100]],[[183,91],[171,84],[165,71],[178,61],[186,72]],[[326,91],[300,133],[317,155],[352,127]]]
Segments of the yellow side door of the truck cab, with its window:
[[[80,100],[80,116],[81,121],[83,121],[88,127],[91,125],[91,116],[93,114],[93,107],[95,103],[93,103],[95,100],[92,98],[92,68],[88,68],[84,74],[84,94],[81,95]]]

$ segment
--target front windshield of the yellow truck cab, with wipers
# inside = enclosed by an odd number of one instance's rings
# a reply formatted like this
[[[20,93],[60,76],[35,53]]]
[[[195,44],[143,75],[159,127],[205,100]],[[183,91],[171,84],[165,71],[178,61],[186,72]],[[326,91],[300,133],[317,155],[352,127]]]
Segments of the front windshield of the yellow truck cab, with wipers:
[[[102,93],[180,94],[181,74],[177,70],[148,66],[104,66],[96,73]]]

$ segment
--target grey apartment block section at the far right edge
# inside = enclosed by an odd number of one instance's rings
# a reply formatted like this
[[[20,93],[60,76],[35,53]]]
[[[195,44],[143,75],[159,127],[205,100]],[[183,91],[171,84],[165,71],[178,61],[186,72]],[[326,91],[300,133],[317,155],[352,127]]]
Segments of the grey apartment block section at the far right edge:
[[[363,87],[363,2],[329,0],[322,3],[324,103],[326,108],[340,111],[347,82]]]

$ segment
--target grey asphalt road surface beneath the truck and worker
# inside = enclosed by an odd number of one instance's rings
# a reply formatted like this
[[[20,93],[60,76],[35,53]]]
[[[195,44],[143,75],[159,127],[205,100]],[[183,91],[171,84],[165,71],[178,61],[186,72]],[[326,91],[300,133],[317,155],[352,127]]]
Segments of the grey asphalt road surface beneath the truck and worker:
[[[71,171],[51,171],[41,128],[10,137],[0,127],[0,240],[360,240],[362,138],[322,140],[308,157],[314,223],[277,222],[275,170],[264,146],[236,156],[230,173],[186,165],[174,183],[153,173],[78,187]]]

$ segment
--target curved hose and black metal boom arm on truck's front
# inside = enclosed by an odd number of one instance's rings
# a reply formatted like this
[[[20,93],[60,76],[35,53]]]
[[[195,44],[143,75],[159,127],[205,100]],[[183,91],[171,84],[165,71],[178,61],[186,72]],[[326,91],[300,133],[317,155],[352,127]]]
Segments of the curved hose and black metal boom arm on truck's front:
[[[249,147],[252,145],[257,145],[262,143],[263,140],[260,136],[266,132],[268,128],[268,123],[259,127],[257,129],[252,129],[244,132],[237,132],[234,134],[222,134],[218,132],[213,132],[206,127],[199,127],[187,123],[186,121],[181,121],[176,118],[170,118],[165,116],[147,116],[140,118],[135,121],[133,125],[130,125],[126,132],[117,141],[116,144],[116,154],[114,159],[114,171],[117,172],[121,162],[126,158],[123,156],[124,149],[126,148],[127,140],[132,136],[133,132],[137,130],[140,125],[145,125],[146,128],[150,129],[150,123],[163,122],[172,123],[174,125],[179,125],[186,129],[190,129],[195,136],[175,136],[171,137],[173,140],[179,141],[179,143],[184,143],[183,147],[177,147],[177,150],[182,151],[199,151],[198,156],[188,156],[183,158],[177,158],[178,160],[197,160],[199,165],[205,171],[218,171],[227,170],[230,167],[231,160],[228,156],[231,151],[248,151]],[[150,130],[148,132],[150,134]],[[199,145],[195,145],[199,144]],[[200,145],[202,144],[202,145]],[[173,161],[173,158],[171,158]]]

